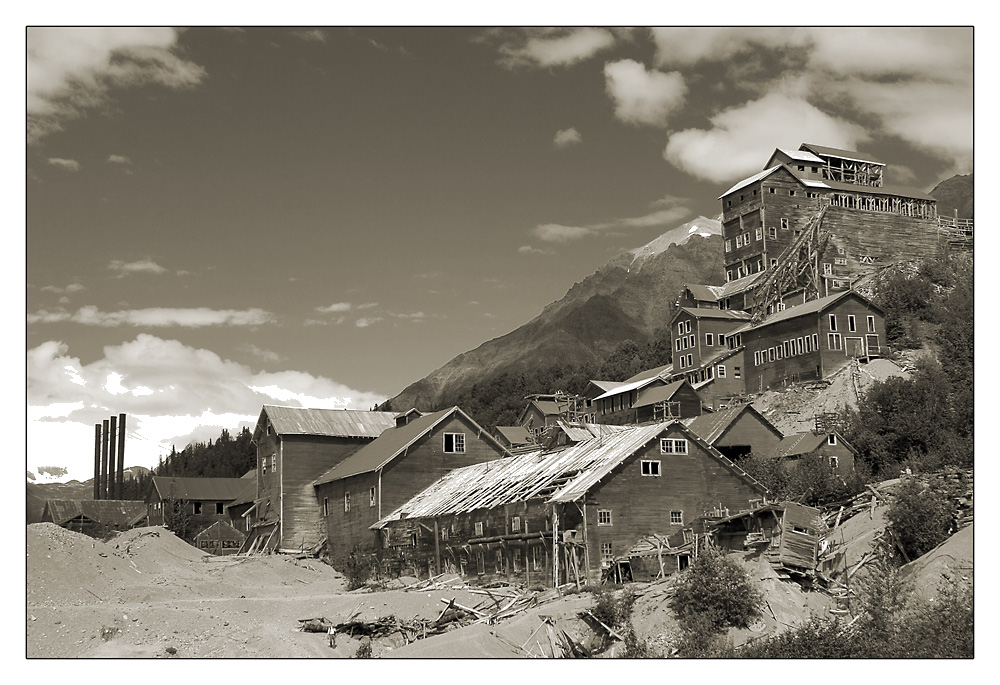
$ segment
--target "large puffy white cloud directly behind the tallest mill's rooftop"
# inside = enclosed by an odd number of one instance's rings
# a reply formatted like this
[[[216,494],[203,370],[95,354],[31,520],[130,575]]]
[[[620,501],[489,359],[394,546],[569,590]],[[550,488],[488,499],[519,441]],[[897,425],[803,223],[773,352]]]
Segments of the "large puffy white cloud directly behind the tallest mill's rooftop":
[[[663,157],[693,176],[723,183],[761,170],[776,147],[798,148],[803,141],[858,149],[868,139],[861,126],[833,117],[798,95],[771,93],[719,112],[709,130],[672,134]],[[721,190],[721,189],[720,189]]]

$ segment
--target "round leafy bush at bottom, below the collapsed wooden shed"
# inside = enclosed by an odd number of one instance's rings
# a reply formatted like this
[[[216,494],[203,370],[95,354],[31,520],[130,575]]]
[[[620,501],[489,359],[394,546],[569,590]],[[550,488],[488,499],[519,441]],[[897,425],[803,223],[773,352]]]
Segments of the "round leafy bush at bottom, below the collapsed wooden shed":
[[[708,548],[682,576],[671,606],[686,632],[708,636],[748,627],[763,597],[739,563]]]

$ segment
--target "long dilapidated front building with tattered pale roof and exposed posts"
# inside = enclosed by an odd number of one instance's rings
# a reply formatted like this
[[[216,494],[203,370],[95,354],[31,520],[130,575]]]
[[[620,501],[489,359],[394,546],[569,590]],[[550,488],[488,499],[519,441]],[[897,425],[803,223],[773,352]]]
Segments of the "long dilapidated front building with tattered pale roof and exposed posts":
[[[713,508],[765,489],[679,421],[456,469],[372,526],[385,558],[421,575],[596,582],[638,540],[681,545]]]

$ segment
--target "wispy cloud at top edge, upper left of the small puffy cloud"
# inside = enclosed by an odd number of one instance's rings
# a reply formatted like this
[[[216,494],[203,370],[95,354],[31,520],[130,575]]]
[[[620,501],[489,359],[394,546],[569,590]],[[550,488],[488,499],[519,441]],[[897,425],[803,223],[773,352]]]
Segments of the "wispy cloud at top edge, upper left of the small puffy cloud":
[[[515,29],[500,37],[498,62],[505,67],[565,67],[614,45],[614,35],[599,28]]]

